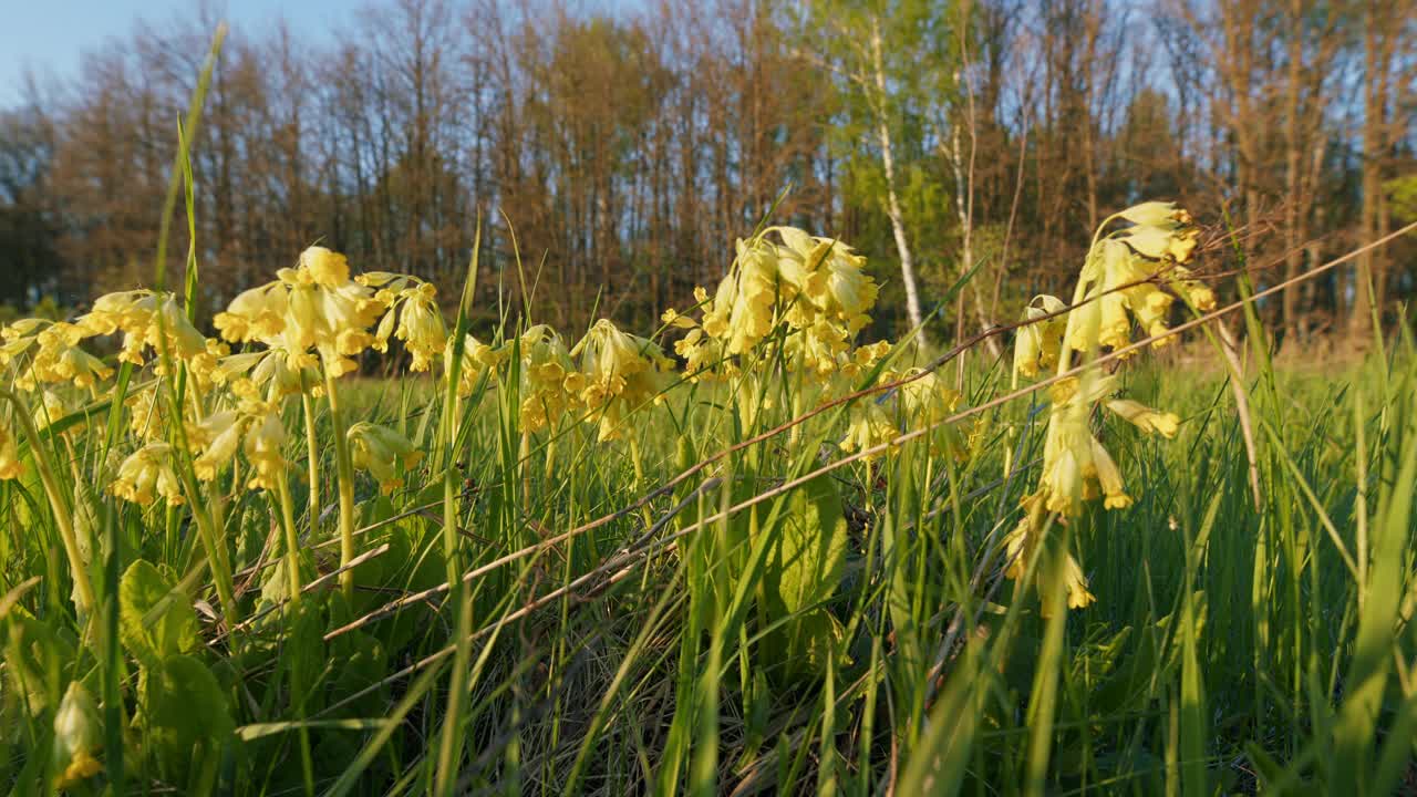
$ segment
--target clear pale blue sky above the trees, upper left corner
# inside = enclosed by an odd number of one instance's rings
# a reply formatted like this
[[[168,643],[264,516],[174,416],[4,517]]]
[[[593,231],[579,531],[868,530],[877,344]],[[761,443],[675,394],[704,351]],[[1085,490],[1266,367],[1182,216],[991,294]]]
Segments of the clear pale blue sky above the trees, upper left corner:
[[[41,81],[77,74],[84,51],[128,37],[139,18],[162,26],[196,17],[194,0],[0,0],[0,106],[18,98],[26,69]],[[283,16],[323,41],[354,21],[364,0],[228,0],[215,14],[234,28],[259,31]]]

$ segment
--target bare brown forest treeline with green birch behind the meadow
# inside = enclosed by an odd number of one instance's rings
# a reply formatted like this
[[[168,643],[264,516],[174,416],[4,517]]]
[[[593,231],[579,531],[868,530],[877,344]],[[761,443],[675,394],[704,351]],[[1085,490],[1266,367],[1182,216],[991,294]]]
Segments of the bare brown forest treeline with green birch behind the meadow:
[[[220,20],[135,23],[0,111],[0,302],[152,284]],[[534,292],[538,321],[649,325],[771,211],[870,257],[881,332],[981,264],[930,321],[944,340],[1057,291],[1136,200],[1229,225],[1213,251],[1261,286],[1417,216],[1417,0],[377,0],[356,20],[228,35],[193,132],[208,308],[316,241],[451,294],[480,217],[483,321]],[[1411,296],[1417,243],[1263,312],[1356,329],[1369,281],[1384,308]]]

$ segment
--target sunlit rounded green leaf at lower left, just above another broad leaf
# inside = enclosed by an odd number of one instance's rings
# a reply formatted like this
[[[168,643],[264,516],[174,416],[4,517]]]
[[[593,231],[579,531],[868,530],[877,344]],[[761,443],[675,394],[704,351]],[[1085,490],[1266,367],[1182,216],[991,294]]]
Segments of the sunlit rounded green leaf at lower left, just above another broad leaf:
[[[197,650],[197,613],[157,567],[137,560],[118,586],[119,635],[143,668]]]

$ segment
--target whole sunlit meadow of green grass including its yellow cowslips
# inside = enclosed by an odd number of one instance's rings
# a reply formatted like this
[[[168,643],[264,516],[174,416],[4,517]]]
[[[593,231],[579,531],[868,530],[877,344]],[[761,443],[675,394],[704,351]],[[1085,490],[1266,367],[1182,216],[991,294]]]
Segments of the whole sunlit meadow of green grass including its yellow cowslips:
[[[863,339],[849,241],[744,233],[639,333],[472,335],[476,247],[463,285],[310,247],[210,321],[191,250],[6,325],[0,780],[1414,787],[1406,321],[1275,366],[1238,250],[1151,201],[999,357],[922,352]]]

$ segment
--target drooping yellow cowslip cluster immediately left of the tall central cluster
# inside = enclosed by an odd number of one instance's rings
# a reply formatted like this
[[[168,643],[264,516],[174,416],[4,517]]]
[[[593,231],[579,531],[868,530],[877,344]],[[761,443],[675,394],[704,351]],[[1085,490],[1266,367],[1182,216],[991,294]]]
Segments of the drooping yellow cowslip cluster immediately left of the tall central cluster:
[[[574,349],[580,370],[567,374],[565,389],[578,396],[599,423],[598,440],[621,434],[621,421],[642,404],[657,400],[663,374],[673,362],[653,342],[621,332],[606,319],[591,326]]]

